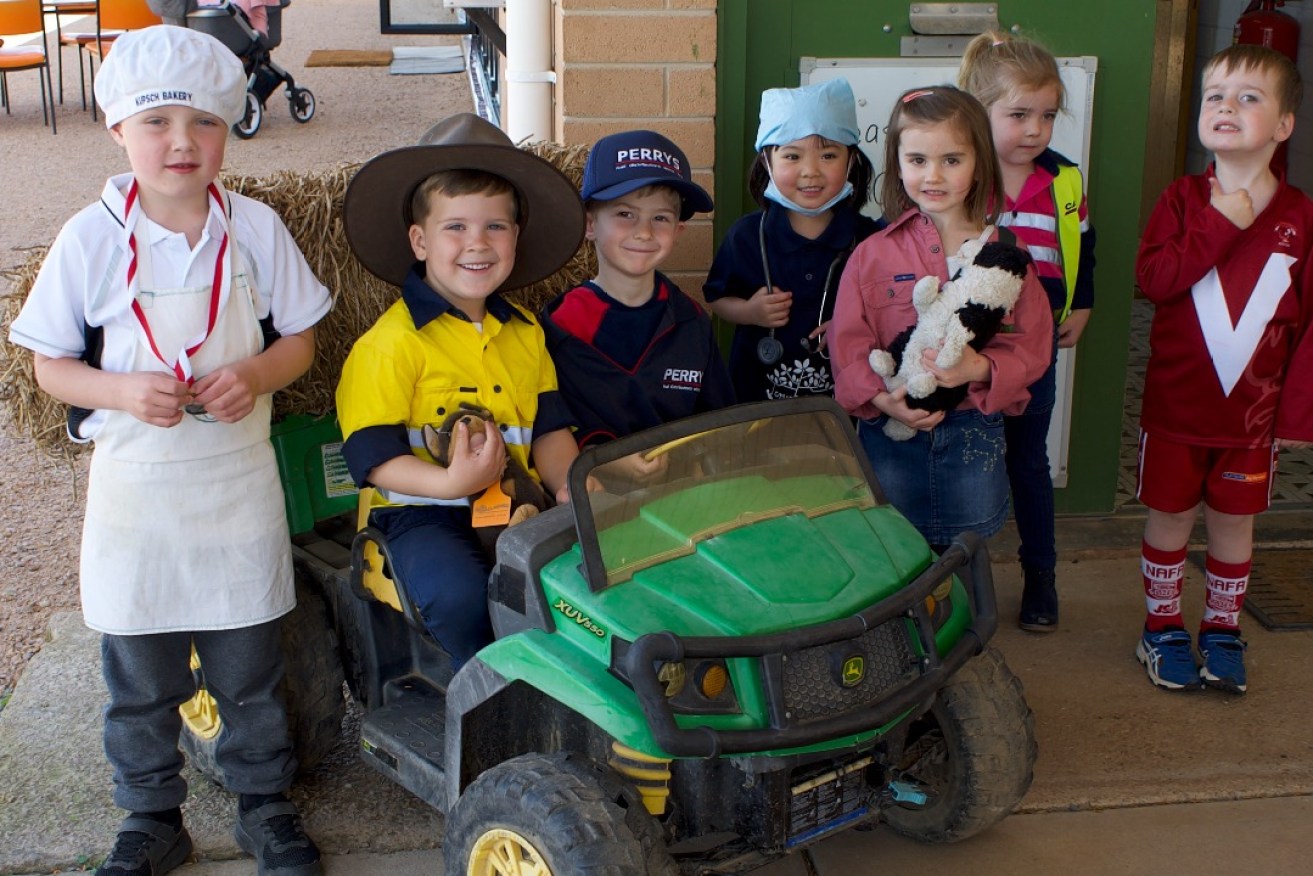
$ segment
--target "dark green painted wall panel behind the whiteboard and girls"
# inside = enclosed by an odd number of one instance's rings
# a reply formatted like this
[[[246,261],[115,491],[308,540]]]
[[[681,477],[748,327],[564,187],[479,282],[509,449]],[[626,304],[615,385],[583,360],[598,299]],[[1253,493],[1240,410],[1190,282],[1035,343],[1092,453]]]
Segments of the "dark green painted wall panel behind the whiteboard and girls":
[[[1090,209],[1099,231],[1098,306],[1079,347],[1069,479],[1057,496],[1064,512],[1107,512],[1116,498],[1157,5],[1145,0],[999,4],[1004,29],[1018,25],[1054,55],[1099,59],[1090,143]],[[907,0],[721,0],[718,236],[754,208],[746,179],[762,91],[797,85],[804,55],[898,56],[899,39],[911,33],[907,8]]]

